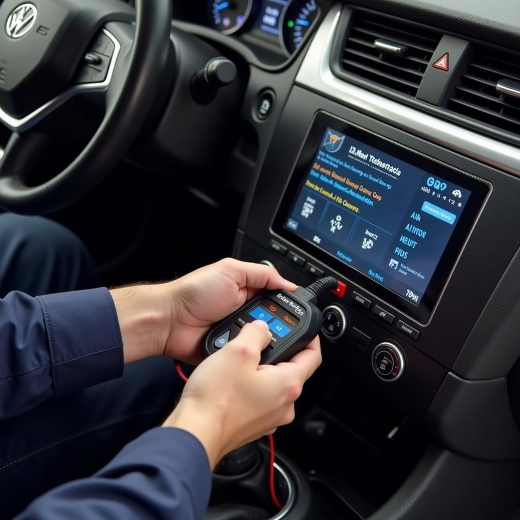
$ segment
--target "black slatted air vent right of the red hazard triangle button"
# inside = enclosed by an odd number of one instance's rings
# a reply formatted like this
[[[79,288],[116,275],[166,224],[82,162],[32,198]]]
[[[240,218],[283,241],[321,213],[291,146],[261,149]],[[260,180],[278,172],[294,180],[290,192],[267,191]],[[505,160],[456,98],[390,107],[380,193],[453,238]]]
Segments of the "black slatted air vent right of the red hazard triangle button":
[[[448,100],[448,109],[520,134],[520,98],[498,92],[497,83],[501,80],[520,83],[520,55],[476,47],[455,96]]]

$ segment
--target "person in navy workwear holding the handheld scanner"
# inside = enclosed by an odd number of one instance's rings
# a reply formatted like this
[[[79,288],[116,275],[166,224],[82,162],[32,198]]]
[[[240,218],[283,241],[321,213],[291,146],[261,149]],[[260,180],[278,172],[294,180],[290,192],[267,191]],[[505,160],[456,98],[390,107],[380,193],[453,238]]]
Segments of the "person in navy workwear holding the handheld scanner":
[[[293,420],[319,340],[259,366],[270,332],[244,326],[194,370],[164,420],[177,393],[172,359],[200,362],[212,323],[258,291],[295,287],[275,269],[225,259],[162,284],[10,292],[0,300],[2,517],[63,483],[18,518],[201,518],[219,459]]]

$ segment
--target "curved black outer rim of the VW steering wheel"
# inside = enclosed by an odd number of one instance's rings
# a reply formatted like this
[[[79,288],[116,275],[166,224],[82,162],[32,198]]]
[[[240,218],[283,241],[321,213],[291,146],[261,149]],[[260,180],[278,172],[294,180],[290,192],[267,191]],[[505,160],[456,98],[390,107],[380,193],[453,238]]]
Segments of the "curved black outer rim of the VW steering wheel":
[[[17,141],[24,138],[23,134],[13,134],[4,160],[0,161],[0,206],[4,209],[36,215],[69,205],[94,188],[136,139],[158,96],[166,71],[172,5],[171,0],[135,0],[135,7],[135,38],[126,78],[116,98],[107,103],[105,118],[96,133],[67,168],[38,186],[25,183],[16,158],[8,160]],[[30,150],[31,146],[28,148]]]

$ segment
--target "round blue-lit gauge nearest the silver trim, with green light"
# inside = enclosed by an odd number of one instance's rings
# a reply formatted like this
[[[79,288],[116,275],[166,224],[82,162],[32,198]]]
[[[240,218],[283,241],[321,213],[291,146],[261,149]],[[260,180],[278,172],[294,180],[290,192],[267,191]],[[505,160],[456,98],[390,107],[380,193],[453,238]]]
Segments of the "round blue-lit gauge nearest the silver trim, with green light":
[[[291,56],[303,42],[319,14],[316,0],[289,0],[280,18],[280,44]]]

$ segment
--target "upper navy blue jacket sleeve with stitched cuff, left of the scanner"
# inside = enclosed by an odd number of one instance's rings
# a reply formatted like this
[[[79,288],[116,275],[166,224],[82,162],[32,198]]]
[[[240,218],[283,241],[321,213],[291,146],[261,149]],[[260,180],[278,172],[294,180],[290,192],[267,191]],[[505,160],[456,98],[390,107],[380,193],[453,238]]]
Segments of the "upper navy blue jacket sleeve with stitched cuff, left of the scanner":
[[[9,293],[0,300],[0,420],[121,376],[122,343],[107,289]]]

